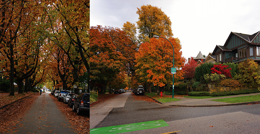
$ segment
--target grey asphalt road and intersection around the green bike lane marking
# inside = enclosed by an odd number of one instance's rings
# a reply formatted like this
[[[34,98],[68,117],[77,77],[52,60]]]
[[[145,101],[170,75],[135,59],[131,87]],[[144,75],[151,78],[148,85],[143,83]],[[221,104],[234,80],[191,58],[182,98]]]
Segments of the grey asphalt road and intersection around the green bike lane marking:
[[[113,108],[93,128],[163,119],[169,126],[126,133],[260,132],[260,104],[220,107],[178,107],[135,100],[134,94],[128,93],[128,95],[123,107]],[[92,122],[90,121],[90,123]]]

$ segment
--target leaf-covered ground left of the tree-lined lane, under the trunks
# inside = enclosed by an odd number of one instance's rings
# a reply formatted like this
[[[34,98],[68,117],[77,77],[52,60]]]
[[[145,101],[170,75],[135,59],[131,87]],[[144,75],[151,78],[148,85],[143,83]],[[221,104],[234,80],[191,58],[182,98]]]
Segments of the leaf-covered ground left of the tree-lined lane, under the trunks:
[[[24,93],[18,93],[15,92],[15,96],[10,96],[10,93],[0,93],[0,108],[2,109],[3,106],[6,106],[8,104],[11,104],[13,102],[16,102],[17,100],[20,100],[24,97],[30,96],[34,94],[34,92],[24,92]]]

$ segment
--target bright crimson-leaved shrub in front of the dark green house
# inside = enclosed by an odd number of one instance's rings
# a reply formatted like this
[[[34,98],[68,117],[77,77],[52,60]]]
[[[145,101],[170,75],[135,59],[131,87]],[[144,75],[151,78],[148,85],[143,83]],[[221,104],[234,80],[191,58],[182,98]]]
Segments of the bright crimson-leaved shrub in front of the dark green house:
[[[228,68],[228,65],[223,65],[223,64],[219,64],[219,65],[213,65],[213,68],[211,68],[211,73],[217,73],[217,74],[223,74],[226,76],[226,78],[232,78],[230,71],[231,68]]]

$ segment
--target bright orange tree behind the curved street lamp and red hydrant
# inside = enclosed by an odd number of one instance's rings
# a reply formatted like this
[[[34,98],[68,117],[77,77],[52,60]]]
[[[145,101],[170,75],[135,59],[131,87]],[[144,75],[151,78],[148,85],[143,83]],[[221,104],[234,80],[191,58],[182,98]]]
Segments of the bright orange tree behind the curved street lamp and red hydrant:
[[[174,67],[177,68],[177,73],[174,79],[177,82],[183,79],[183,71],[179,70],[184,65],[184,57],[181,57],[181,45],[178,38],[169,38],[169,41],[174,47]],[[172,45],[164,38],[151,38],[150,43],[141,44],[139,51],[135,55],[136,73],[140,80],[147,81],[151,85],[160,87],[165,84],[172,84],[171,68],[173,67],[173,49]],[[151,87],[148,87],[148,92],[151,92]]]

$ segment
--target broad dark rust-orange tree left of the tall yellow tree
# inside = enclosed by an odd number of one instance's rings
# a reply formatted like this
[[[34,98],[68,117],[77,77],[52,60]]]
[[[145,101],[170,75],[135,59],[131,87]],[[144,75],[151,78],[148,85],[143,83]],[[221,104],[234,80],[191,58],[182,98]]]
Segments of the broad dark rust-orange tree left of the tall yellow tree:
[[[119,28],[90,28],[90,79],[101,85],[101,93],[120,72],[130,73],[135,50],[136,45]]]

